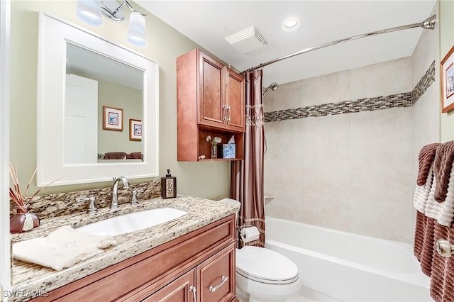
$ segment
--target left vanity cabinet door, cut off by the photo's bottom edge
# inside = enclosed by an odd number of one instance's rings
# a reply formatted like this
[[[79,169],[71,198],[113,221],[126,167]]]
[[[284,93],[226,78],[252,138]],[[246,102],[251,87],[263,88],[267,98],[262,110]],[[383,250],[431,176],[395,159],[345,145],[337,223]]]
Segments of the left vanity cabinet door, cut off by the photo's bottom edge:
[[[170,282],[159,291],[143,299],[144,302],[196,302],[194,297],[195,269]]]

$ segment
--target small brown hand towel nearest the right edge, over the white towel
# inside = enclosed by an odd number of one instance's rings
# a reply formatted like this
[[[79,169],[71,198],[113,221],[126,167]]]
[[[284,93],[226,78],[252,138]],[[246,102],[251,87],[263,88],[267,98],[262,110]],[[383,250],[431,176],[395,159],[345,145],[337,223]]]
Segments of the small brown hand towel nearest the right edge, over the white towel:
[[[433,175],[436,179],[434,198],[438,202],[445,201],[448,184],[454,161],[454,141],[445,142],[437,148],[433,162]]]

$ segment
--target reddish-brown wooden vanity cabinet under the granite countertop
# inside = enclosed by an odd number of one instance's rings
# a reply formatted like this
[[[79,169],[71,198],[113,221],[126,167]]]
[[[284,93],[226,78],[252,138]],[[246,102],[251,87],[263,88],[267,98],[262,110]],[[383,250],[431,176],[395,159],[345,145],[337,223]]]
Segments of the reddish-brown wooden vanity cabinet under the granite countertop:
[[[233,301],[234,230],[231,215],[33,301]]]

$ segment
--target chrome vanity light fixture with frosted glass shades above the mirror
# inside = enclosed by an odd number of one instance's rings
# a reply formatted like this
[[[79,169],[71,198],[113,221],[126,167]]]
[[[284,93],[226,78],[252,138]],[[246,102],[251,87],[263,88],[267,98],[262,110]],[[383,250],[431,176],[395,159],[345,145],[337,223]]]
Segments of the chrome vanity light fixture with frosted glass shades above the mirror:
[[[79,0],[77,1],[76,16],[92,26],[101,25],[101,14],[111,21],[122,22],[125,20],[123,6],[128,6],[131,9],[128,42],[140,47],[147,45],[144,18],[147,14],[136,11],[127,0]]]

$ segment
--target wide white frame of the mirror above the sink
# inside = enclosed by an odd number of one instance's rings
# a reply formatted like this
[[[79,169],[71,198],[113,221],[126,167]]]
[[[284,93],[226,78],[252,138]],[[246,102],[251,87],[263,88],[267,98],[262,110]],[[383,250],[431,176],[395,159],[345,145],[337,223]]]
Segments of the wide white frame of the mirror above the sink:
[[[123,64],[143,70],[143,162],[65,164],[66,44],[73,43]],[[109,42],[95,33],[40,12],[37,93],[37,186],[85,184],[156,177],[159,173],[159,91],[157,62]],[[127,124],[126,124],[127,125]],[[128,130],[127,127],[123,130]]]

